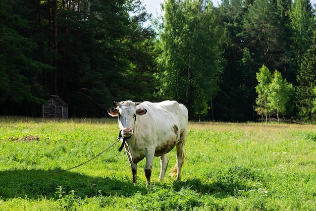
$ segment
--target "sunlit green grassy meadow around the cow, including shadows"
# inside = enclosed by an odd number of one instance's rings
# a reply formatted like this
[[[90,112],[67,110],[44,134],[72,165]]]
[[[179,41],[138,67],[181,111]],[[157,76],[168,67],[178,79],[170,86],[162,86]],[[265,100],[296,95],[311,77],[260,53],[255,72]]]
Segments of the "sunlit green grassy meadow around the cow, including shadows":
[[[181,181],[138,181],[117,120],[0,117],[0,210],[316,210],[316,126],[189,123]],[[176,163],[169,153],[167,174]]]

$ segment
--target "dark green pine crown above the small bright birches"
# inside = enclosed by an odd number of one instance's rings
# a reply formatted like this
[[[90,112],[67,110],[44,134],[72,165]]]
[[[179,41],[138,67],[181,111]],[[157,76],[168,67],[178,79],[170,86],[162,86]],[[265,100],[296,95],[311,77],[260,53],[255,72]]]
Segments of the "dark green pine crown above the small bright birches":
[[[290,1],[256,0],[243,17],[243,30],[238,36],[249,49],[256,67],[288,69],[287,10]]]

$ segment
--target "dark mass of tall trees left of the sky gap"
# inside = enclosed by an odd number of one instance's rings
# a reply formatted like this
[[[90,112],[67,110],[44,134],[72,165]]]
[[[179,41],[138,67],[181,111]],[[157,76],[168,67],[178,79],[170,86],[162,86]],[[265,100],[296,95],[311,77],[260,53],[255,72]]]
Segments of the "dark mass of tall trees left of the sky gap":
[[[154,33],[142,26],[148,15],[141,1],[19,0],[1,6],[3,114],[19,114],[22,103],[36,111],[49,94],[69,104],[70,116],[102,116],[122,98],[150,99]]]

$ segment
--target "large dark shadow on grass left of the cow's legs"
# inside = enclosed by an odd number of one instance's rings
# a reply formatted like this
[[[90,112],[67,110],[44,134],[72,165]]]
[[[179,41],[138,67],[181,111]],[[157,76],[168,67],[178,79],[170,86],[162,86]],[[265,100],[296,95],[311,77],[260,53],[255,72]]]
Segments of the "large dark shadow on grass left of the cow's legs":
[[[39,197],[58,199],[59,187],[65,194],[72,190],[84,198],[102,194],[103,196],[130,196],[136,192],[146,193],[146,187],[133,185],[115,178],[89,177],[80,173],[43,171],[43,170],[12,170],[0,172],[0,197]]]

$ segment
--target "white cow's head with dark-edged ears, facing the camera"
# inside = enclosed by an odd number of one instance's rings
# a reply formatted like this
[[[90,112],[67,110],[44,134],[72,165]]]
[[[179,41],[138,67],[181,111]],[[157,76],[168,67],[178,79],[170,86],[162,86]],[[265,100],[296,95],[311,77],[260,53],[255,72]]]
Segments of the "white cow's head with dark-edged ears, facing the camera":
[[[134,133],[136,124],[136,115],[144,115],[147,110],[144,108],[137,108],[140,102],[133,102],[131,100],[115,102],[117,107],[108,109],[108,114],[112,117],[119,117],[119,127],[123,137],[130,137]]]

